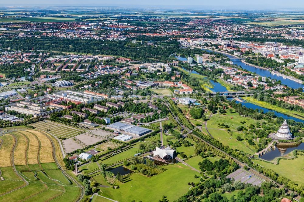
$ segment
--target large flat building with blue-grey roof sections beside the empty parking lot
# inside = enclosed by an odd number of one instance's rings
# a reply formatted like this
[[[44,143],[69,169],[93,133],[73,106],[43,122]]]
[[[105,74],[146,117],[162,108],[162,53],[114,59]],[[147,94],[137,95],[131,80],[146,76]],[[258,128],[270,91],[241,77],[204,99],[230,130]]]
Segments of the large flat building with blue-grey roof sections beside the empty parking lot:
[[[122,122],[116,122],[116,123],[110,124],[107,126],[107,128],[111,129],[111,130],[115,130],[115,131],[124,131],[125,133],[128,133],[130,135],[136,135],[136,136],[142,136],[142,135],[152,131],[147,128],[134,126],[134,125],[122,123]]]

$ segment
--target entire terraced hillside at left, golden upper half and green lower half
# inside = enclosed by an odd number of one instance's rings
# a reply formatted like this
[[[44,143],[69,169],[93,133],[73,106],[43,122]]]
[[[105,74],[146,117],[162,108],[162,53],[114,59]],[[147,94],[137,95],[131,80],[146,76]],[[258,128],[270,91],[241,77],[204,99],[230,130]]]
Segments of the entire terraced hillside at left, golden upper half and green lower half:
[[[81,197],[81,187],[58,168],[56,160],[63,157],[50,135],[27,128],[9,131],[0,136],[0,156],[4,178],[0,201],[77,201]]]

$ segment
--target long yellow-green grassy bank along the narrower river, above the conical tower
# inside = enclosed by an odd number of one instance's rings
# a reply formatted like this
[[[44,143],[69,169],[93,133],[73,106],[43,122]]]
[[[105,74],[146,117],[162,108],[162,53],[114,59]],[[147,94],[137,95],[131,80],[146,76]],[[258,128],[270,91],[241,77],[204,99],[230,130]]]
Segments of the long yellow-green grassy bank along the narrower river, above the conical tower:
[[[304,113],[302,113],[302,112],[290,111],[290,110],[284,109],[282,107],[273,106],[273,105],[271,105],[269,103],[266,103],[264,101],[259,101],[257,99],[254,99],[253,97],[243,97],[242,99],[246,100],[249,103],[255,104],[257,106],[261,106],[261,107],[264,107],[264,108],[267,108],[267,109],[278,111],[278,112],[281,112],[281,113],[286,114],[288,116],[292,116],[292,117],[304,120]]]

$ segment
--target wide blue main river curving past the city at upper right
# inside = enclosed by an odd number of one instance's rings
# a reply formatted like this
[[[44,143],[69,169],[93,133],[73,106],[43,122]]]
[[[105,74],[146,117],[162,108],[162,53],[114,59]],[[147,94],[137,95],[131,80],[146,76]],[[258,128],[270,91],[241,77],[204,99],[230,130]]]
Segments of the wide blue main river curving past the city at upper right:
[[[202,50],[204,50],[206,52],[209,52],[209,53],[213,52],[213,51],[208,50],[208,49],[202,49]],[[219,53],[219,52],[216,52],[216,53]],[[283,76],[278,76],[278,75],[275,75],[275,74],[271,74],[271,72],[269,72],[266,69],[261,69],[261,68],[254,67],[252,65],[247,65],[244,62],[242,62],[240,59],[237,59],[237,57],[235,57],[235,56],[231,56],[231,55],[226,54],[226,53],[221,53],[221,54],[225,55],[229,59],[231,59],[231,61],[233,62],[233,64],[235,64],[237,66],[241,66],[243,69],[246,69],[246,70],[248,70],[250,72],[255,72],[255,73],[257,73],[260,76],[270,77],[271,79],[281,80],[281,82],[282,82],[283,85],[287,85],[288,87],[293,88],[293,89],[304,88],[304,85],[301,84],[301,83],[292,81],[290,79],[286,79]]]

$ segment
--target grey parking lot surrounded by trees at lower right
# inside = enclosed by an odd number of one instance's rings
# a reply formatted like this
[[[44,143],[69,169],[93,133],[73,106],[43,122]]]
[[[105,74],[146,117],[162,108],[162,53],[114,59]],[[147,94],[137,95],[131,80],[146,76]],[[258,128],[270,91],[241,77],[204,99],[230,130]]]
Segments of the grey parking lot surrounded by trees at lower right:
[[[251,177],[250,177],[251,176]],[[261,178],[254,175],[250,170],[244,170],[242,168],[234,171],[233,173],[230,173],[227,175],[227,178],[233,178],[235,181],[241,181],[245,184],[253,184],[257,186],[261,186],[261,183],[264,182]]]

